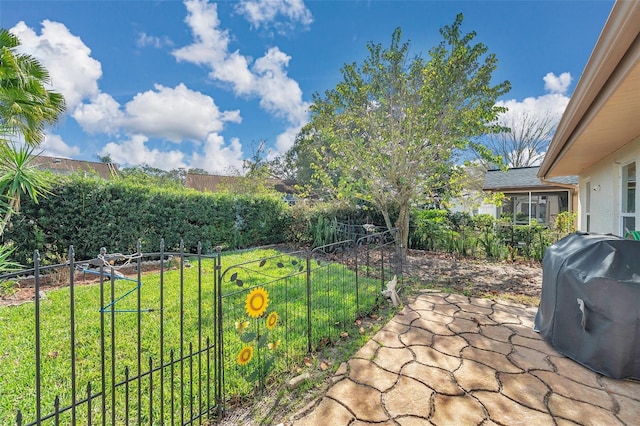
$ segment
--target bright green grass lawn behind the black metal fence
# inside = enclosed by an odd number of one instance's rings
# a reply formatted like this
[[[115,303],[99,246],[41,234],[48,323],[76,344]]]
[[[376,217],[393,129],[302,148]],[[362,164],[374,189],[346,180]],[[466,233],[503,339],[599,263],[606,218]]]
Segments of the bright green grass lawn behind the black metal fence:
[[[209,406],[215,383],[214,262],[203,259],[198,263],[192,258],[191,264],[182,271],[164,271],[163,280],[160,273],[143,275],[139,291],[114,305],[117,312],[106,309],[101,313],[112,297],[110,282],[104,283],[102,293],[99,284],[74,287],[76,400],[87,397],[89,383],[91,395],[100,393],[103,386],[105,389],[105,398],[93,398],[91,406],[77,409],[81,424],[86,423],[89,411],[92,422],[99,423],[103,402],[108,422],[115,419],[119,424],[138,419],[158,422],[160,417],[171,423],[184,422]],[[223,279],[227,399],[252,397],[257,384],[301,363],[308,346],[306,261],[274,250],[223,256],[223,271],[236,264],[241,266],[225,272]],[[361,274],[356,300],[351,270],[315,260],[311,265],[311,344],[316,349],[349,332],[357,316],[356,303],[361,312],[373,309],[381,281]],[[116,280],[114,299],[136,285],[137,281]],[[269,303],[262,315],[252,318],[246,300],[257,287],[264,289]],[[60,407],[72,401],[70,299],[70,289],[62,288],[49,291],[47,299],[40,302],[43,414],[54,411],[56,396]],[[272,313],[277,320],[267,328]],[[34,315],[34,303],[0,308],[0,424],[15,421],[18,409],[25,422],[35,416]],[[247,346],[251,347],[251,359],[239,362]],[[148,374],[150,370],[152,374]],[[139,373],[142,378],[129,380]],[[115,392],[113,383],[120,383]],[[113,412],[112,399],[116,406]],[[63,424],[69,420],[68,412],[60,416]]]

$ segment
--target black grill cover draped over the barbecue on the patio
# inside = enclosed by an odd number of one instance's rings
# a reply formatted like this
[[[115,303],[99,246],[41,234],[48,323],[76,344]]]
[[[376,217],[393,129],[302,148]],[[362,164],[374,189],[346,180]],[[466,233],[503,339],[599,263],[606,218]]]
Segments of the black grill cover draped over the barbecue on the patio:
[[[640,241],[577,232],[542,267],[535,331],[592,370],[640,378]]]

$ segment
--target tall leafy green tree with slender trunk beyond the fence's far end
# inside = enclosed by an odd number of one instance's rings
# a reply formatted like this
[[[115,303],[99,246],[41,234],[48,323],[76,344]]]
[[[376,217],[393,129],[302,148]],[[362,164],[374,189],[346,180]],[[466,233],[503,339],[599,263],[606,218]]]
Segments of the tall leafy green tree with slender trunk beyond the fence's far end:
[[[498,131],[497,99],[508,81],[491,84],[494,54],[463,17],[440,30],[429,59],[409,57],[396,29],[391,45],[368,43],[368,57],[342,68],[343,81],[314,95],[311,121],[294,148],[305,152],[316,183],[342,198],[359,198],[398,227],[404,250],[411,207],[449,187],[455,154],[478,147],[474,138]],[[397,217],[391,217],[397,211]],[[395,215],[394,215],[395,216]]]

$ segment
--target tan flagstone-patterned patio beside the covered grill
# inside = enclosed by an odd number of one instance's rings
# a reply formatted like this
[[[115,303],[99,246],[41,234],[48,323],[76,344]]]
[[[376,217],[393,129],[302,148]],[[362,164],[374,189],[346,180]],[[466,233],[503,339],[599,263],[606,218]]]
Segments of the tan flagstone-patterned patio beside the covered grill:
[[[348,363],[303,425],[638,425],[640,382],[562,356],[536,308],[423,293]]]

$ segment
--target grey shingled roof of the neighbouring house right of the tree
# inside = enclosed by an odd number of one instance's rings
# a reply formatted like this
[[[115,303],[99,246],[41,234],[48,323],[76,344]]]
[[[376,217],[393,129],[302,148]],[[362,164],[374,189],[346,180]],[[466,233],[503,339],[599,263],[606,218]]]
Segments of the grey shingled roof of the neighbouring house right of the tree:
[[[530,191],[566,189],[568,185],[578,184],[576,176],[565,176],[553,179],[552,182],[544,183],[537,176],[540,167],[516,167],[513,169],[489,170],[484,177],[484,191],[508,192],[508,191]],[[557,185],[554,185],[556,183]]]

